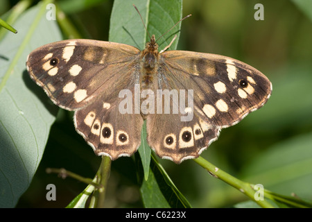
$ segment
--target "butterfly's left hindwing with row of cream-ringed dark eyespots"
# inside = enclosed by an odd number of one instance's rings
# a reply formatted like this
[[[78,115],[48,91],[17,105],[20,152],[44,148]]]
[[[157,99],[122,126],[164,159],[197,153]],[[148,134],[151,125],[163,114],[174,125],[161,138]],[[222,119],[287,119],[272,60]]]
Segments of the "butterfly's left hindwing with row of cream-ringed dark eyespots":
[[[112,160],[130,156],[141,143],[141,114],[121,112],[119,97],[100,96],[86,108],[74,114],[76,130],[97,155],[108,155]]]

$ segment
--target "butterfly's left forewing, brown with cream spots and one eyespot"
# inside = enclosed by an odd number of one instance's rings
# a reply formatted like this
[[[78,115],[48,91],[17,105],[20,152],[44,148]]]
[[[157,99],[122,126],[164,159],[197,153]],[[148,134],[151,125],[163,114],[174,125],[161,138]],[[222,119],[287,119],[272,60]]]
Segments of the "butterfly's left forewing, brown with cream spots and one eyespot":
[[[139,50],[114,42],[64,40],[35,49],[26,62],[31,78],[61,108],[76,110],[109,90]]]

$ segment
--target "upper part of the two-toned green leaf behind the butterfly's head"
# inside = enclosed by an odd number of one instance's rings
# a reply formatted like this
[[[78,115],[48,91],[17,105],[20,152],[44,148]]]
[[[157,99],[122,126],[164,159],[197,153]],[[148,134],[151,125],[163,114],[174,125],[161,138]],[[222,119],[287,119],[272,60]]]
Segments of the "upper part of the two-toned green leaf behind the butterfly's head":
[[[144,24],[150,35],[155,35],[156,39],[172,28],[182,18],[182,1],[114,1],[112,17],[110,19],[110,41],[130,44],[139,49],[144,49],[146,41],[149,42],[148,33],[142,24],[141,19],[135,8],[137,6]],[[171,50],[177,48],[181,23],[177,24],[166,36],[159,39],[159,51],[164,49],[173,35],[177,39],[171,45]],[[150,36],[151,37],[151,36]]]

